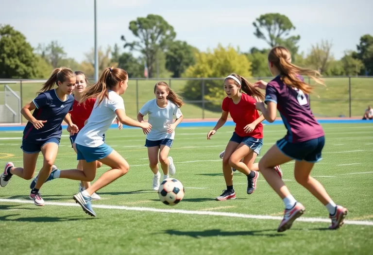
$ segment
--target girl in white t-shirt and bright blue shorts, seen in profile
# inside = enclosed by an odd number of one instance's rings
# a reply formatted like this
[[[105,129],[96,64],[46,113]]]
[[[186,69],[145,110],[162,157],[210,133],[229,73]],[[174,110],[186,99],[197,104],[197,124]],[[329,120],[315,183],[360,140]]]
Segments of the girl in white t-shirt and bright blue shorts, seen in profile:
[[[96,216],[92,209],[91,195],[109,183],[117,180],[128,172],[130,166],[127,161],[102,140],[103,134],[110,128],[114,119],[125,125],[141,127],[149,133],[152,125],[140,123],[126,116],[124,102],[120,95],[127,89],[128,74],[120,68],[106,68],[99,81],[85,89],[81,94],[80,102],[90,98],[97,99],[91,115],[85,126],[79,131],[75,139],[78,160],[82,162],[82,170],[54,170],[47,181],[56,178],[67,178],[77,181],[91,182],[96,176],[97,161],[109,166],[106,171],[91,186],[74,195],[76,203],[80,204],[85,213]]]

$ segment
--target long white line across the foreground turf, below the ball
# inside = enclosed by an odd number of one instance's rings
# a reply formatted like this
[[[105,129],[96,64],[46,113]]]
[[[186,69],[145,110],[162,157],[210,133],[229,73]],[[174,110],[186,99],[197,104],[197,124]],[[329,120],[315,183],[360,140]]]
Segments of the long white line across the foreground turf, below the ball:
[[[0,199],[0,202],[34,204],[34,201],[21,200],[21,199]],[[59,205],[59,206],[80,206],[79,204],[76,204],[76,203],[45,202],[45,204]],[[276,220],[276,221],[282,220],[281,216],[252,215],[252,214],[240,214],[240,213],[228,213],[228,212],[189,211],[189,210],[179,210],[179,209],[158,209],[158,208],[149,208],[149,207],[130,207],[130,206],[103,205],[103,204],[92,204],[92,207],[101,208],[101,209],[117,209],[117,210],[142,211],[142,212],[161,212],[161,213],[223,216],[223,217],[246,218],[246,219],[256,219],[256,220]],[[330,223],[329,219],[323,219],[323,218],[301,217],[301,218],[298,218],[297,221]],[[373,226],[373,221],[344,221],[344,223],[351,224],[351,225]]]

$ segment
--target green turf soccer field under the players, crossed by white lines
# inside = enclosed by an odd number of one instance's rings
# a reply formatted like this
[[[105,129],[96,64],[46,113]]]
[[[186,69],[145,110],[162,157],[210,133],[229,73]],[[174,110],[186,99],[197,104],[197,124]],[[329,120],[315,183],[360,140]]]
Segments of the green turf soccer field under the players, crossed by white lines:
[[[323,127],[326,132],[323,160],[316,165],[312,176],[321,181],[337,204],[349,209],[346,218],[349,222],[337,231],[327,230],[327,210],[295,182],[292,162],[282,167],[285,183],[305,205],[306,212],[303,221],[295,221],[290,230],[276,232],[283,203],[262,176],[257,190],[247,195],[246,177],[236,172],[237,199],[215,201],[225,188],[219,153],[224,150],[233,127],[221,128],[211,141],[205,138],[210,127],[176,130],[170,155],[176,166],[174,177],[184,184],[186,195],[174,207],[164,205],[151,190],[153,174],[148,168],[144,135],[140,129],[123,129],[109,130],[107,143],[127,159],[131,168],[128,174],[97,192],[102,200],[94,205],[103,208],[95,208],[96,218],[74,206],[76,181],[57,179],[46,183],[41,192],[44,200],[53,204],[43,207],[35,206],[28,198],[30,181],[13,177],[7,187],[0,189],[3,240],[0,253],[371,254],[373,123]],[[261,155],[284,134],[282,125],[265,126]],[[0,133],[1,164],[13,161],[22,166],[21,136],[19,132]],[[55,164],[60,169],[70,169],[76,163],[65,132]],[[37,169],[41,164],[42,157]],[[105,170],[108,168],[103,166],[98,175]],[[164,211],[169,209],[173,213]],[[262,216],[277,218],[262,219]]]

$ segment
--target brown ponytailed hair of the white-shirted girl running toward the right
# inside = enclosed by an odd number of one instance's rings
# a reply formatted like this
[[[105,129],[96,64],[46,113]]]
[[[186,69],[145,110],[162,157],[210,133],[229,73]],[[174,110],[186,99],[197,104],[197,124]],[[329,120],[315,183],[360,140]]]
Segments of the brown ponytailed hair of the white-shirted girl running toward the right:
[[[80,102],[85,102],[88,98],[97,98],[100,104],[104,98],[109,98],[109,89],[127,78],[128,74],[123,69],[105,68],[99,81],[83,91]]]

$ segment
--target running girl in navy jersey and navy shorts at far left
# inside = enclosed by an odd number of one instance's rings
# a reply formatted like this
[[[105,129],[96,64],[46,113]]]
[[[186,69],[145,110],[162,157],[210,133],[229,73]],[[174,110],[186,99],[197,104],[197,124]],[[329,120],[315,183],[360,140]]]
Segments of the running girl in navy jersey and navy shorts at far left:
[[[13,175],[25,180],[33,178],[37,157],[41,152],[44,158],[43,167],[30,193],[30,199],[34,200],[35,205],[44,205],[39,189],[51,174],[52,168],[55,168],[53,164],[62,135],[62,121],[68,123],[72,134],[79,131],[68,114],[74,103],[71,93],[75,81],[75,73],[71,69],[65,67],[54,69],[51,77],[37,93],[37,97],[21,110],[21,114],[28,120],[23,131],[21,146],[23,168],[15,167],[12,162],[8,162],[0,176],[0,186],[5,187]],[[53,88],[54,85],[57,87]],[[34,113],[31,113],[33,110]]]

